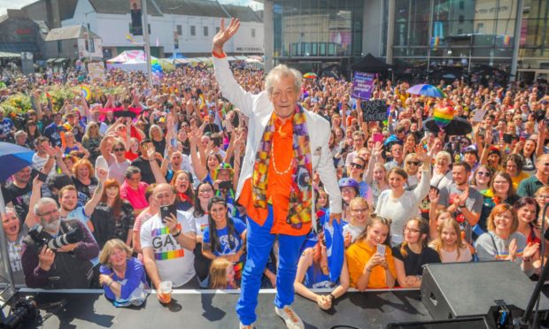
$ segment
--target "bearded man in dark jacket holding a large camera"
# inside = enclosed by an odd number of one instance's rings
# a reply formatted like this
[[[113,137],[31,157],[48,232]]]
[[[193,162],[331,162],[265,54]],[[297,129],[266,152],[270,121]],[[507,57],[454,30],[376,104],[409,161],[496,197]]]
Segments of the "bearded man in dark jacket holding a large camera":
[[[21,252],[27,287],[89,287],[93,275],[90,260],[99,254],[89,230],[78,219],[61,221],[58,204],[51,198],[38,200],[34,212],[40,226],[29,231]]]

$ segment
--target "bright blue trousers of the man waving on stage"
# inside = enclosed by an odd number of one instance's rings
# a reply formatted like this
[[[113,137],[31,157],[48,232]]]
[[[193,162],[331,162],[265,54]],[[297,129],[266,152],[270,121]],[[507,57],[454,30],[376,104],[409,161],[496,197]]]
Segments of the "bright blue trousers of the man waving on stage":
[[[259,226],[248,218],[248,245],[246,264],[242,273],[240,298],[236,304],[236,313],[243,325],[251,325],[256,320],[255,309],[258,306],[261,276],[267,265],[269,253],[273,248],[276,234],[271,233],[273,226],[273,208],[268,205],[265,224]],[[298,270],[299,249],[305,241],[305,235],[278,235],[279,264],[276,272],[276,297],[274,305],[282,308],[294,301],[294,280]]]

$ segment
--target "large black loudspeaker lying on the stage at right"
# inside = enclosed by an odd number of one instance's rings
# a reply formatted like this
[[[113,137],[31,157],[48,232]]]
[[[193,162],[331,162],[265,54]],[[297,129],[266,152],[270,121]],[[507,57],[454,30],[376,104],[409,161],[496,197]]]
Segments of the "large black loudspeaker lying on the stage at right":
[[[512,262],[427,264],[421,302],[436,320],[484,317],[501,303],[524,310],[535,285]],[[541,295],[539,310],[549,310],[545,295]]]

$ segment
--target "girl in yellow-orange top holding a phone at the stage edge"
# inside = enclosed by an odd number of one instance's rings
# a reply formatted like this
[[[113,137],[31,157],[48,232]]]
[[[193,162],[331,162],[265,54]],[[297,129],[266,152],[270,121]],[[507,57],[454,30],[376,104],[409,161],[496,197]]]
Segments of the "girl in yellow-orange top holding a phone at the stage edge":
[[[390,250],[390,224],[387,218],[376,216],[370,219],[364,232],[345,251],[351,287],[364,291],[395,286],[397,271]],[[379,246],[383,246],[385,251]],[[383,254],[378,253],[378,249]]]

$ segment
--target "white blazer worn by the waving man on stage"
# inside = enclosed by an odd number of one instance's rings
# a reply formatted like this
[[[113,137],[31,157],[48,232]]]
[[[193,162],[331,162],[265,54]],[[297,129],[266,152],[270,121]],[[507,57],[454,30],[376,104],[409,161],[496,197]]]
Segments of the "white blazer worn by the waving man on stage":
[[[238,187],[236,189],[236,199],[238,199],[242,192],[244,181],[251,178],[259,142],[261,142],[265,127],[274,111],[274,106],[268,98],[267,90],[254,95],[245,91],[238,85],[228,66],[226,57],[213,57],[213,67],[215,69],[215,79],[220,86],[223,97],[235,104],[235,106],[249,118],[246,153],[244,155]],[[330,136],[329,122],[320,115],[306,110],[305,119],[309,132],[311,153],[313,153],[313,172],[319,172],[326,193],[329,195],[330,212],[341,213],[341,191],[339,190],[337,182],[336,167],[334,166],[332,154],[330,153],[328,146]],[[316,218],[314,199],[313,189],[313,224],[315,224],[314,218]]]

